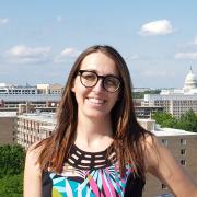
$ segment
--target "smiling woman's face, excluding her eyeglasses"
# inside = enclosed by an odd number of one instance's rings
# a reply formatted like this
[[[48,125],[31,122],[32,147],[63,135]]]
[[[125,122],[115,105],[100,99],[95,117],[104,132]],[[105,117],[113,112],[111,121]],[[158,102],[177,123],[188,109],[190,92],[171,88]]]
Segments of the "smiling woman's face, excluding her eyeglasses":
[[[114,60],[100,51],[88,55],[83,59],[80,70],[93,71],[104,77],[108,74],[119,77]],[[113,93],[107,92],[102,82],[103,79],[99,79],[95,86],[85,88],[80,81],[80,76],[76,77],[72,92],[76,94],[79,117],[102,118],[109,116],[118,100],[119,90]]]

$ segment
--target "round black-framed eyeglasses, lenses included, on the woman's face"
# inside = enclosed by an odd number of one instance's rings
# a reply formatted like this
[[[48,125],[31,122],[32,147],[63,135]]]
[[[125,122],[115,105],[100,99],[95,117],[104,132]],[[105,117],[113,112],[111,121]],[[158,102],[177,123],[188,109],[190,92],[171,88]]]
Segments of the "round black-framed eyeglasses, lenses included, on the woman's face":
[[[99,76],[94,71],[79,70],[78,76],[85,88],[95,86],[100,79],[102,79],[102,85],[107,92],[116,92],[120,86],[120,80],[113,74]]]

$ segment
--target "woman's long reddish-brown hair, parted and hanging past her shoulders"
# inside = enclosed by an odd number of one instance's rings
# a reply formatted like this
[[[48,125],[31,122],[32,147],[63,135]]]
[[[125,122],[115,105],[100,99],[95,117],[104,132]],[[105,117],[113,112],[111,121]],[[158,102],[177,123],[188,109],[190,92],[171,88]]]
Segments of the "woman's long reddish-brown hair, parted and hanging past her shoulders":
[[[111,112],[114,135],[113,148],[117,153],[120,173],[123,174],[126,164],[131,164],[134,173],[144,178],[144,151],[142,141],[149,131],[144,130],[136,119],[130,74],[120,54],[111,46],[101,45],[85,49],[77,58],[70,71],[57,109],[57,126],[55,131],[50,137],[44,139],[35,147],[42,147],[38,158],[40,170],[47,170],[49,167],[60,173],[65,159],[69,157],[70,148],[74,142],[78,123],[78,104],[71,88],[83,59],[88,55],[99,51],[115,61],[121,80],[120,99]]]

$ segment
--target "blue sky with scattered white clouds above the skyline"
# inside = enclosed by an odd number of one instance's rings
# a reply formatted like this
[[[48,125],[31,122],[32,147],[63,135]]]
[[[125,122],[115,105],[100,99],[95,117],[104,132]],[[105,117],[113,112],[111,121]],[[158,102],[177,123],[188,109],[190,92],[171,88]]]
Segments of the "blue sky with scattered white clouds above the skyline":
[[[134,86],[197,76],[196,0],[0,0],[0,83],[65,84],[80,51],[115,47]]]

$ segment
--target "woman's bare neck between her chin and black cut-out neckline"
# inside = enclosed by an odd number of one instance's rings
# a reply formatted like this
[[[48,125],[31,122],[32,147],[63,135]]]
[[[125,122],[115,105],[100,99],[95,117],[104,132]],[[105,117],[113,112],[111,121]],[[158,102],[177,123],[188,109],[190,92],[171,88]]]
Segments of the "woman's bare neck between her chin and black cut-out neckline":
[[[107,148],[113,141],[111,117],[79,118],[76,144],[82,149],[99,151]],[[101,146],[102,144],[102,146]]]

